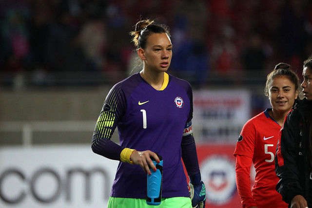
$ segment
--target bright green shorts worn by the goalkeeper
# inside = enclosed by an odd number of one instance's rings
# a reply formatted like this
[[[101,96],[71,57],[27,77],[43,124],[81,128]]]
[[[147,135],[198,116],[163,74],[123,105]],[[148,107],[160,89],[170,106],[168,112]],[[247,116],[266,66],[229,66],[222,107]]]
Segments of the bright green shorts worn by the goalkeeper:
[[[146,204],[146,199],[110,197],[107,208],[192,208],[189,197],[163,198],[158,206]]]

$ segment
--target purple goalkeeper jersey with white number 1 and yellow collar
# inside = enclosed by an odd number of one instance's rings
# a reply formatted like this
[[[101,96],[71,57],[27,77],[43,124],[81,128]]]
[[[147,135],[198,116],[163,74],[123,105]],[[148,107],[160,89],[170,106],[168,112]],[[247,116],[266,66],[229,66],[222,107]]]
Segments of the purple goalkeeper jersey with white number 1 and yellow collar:
[[[187,81],[169,75],[167,87],[157,91],[137,73],[110,90],[93,143],[98,152],[107,151],[104,140],[110,139],[117,127],[120,146],[109,148],[108,158],[120,161],[124,148],[157,152],[163,158],[162,198],[189,197],[181,141],[192,117],[193,94]],[[111,196],[145,198],[146,180],[147,173],[140,166],[119,162]]]

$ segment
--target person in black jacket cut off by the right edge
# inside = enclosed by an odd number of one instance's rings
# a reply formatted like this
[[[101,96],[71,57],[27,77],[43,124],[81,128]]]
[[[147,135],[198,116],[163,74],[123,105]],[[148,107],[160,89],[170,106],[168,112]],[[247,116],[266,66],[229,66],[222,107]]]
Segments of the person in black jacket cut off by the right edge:
[[[276,190],[290,208],[312,207],[312,56],[303,62],[302,92],[279,133]]]

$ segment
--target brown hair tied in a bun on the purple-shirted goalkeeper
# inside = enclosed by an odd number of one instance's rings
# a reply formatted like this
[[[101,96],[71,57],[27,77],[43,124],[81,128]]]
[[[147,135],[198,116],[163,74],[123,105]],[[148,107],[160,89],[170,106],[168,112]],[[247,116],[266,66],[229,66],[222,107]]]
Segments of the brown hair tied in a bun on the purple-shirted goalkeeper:
[[[135,27],[135,31],[130,32],[130,35],[137,49],[145,48],[147,38],[152,33],[166,33],[170,37],[169,28],[164,24],[156,24],[154,20],[140,20]]]

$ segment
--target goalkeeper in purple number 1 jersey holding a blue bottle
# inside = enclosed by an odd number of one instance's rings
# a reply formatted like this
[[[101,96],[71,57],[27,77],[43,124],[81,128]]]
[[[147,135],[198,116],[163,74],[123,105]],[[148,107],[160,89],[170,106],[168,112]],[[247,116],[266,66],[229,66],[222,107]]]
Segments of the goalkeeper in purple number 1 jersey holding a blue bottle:
[[[156,170],[150,158],[159,161],[156,152],[163,159],[158,207],[205,207],[192,132],[192,89],[187,81],[166,73],[172,58],[170,33],[147,19],[137,22],[131,35],[143,70],[110,90],[92,139],[95,153],[120,161],[108,207],[148,207],[146,178],[149,167]],[[116,127],[120,145],[110,140]],[[192,202],[181,158],[194,190]]]

